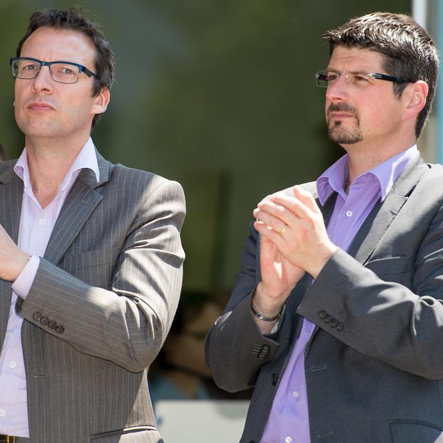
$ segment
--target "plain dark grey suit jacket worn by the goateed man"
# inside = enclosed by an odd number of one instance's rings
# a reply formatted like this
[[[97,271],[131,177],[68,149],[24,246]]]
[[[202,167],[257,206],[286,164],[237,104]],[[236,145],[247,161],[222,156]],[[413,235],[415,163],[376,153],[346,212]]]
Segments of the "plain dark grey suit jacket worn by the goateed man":
[[[206,343],[221,388],[255,386],[242,442],[260,442],[302,318],[316,325],[305,351],[312,443],[443,442],[442,205],[442,166],[413,161],[349,253],[338,250],[313,284],[307,275],[296,285],[271,336],[250,311],[260,282],[251,227],[242,272]],[[333,207],[334,197],[326,220]]]

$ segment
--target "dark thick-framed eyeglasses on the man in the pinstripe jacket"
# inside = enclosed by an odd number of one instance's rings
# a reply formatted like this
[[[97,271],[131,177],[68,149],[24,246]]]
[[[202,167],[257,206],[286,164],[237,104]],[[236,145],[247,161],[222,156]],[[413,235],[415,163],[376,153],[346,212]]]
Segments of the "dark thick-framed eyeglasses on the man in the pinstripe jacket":
[[[58,83],[75,83],[80,73],[84,73],[88,77],[98,78],[98,74],[89,71],[81,64],[72,62],[42,62],[42,60],[36,58],[15,57],[10,59],[10,65],[12,66],[12,75],[24,80],[36,78],[42,66],[48,66],[51,77],[54,82]]]

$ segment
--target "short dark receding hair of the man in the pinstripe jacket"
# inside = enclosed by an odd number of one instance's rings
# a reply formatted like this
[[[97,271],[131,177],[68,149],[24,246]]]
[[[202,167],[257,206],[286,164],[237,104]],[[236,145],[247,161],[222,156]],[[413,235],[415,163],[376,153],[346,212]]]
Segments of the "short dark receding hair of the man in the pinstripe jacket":
[[[111,46],[109,46],[105,36],[99,30],[98,24],[86,17],[79,8],[70,8],[68,10],[45,9],[34,12],[30,16],[28,29],[26,29],[25,35],[17,46],[17,57],[20,57],[21,48],[26,39],[35,30],[44,26],[55,29],[74,30],[89,37],[96,48],[94,68],[98,74],[98,79],[94,80],[92,95],[93,97],[98,96],[103,88],[111,89],[116,65],[114,52],[111,50]],[[100,114],[96,114],[92,121],[93,127],[99,119]]]

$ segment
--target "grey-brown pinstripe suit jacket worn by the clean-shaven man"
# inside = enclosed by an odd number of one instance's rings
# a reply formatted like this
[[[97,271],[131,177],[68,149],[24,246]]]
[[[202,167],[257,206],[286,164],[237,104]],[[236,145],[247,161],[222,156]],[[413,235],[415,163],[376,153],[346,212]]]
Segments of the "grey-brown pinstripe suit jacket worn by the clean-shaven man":
[[[82,170],[26,300],[17,300],[32,443],[159,443],[147,367],[177,309],[179,183],[112,165]],[[17,241],[23,181],[0,164],[0,223]],[[10,282],[0,280],[0,346]]]

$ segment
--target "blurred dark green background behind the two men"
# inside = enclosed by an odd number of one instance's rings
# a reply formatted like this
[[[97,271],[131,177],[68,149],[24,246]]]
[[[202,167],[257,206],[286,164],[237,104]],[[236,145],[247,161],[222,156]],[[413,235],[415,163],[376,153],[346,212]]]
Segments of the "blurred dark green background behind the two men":
[[[383,10],[413,14],[439,42],[443,6],[438,0],[0,0],[0,143],[8,158],[24,147],[8,60],[31,12],[74,4],[101,24],[117,58],[111,105],[93,134],[98,150],[185,189],[183,318],[165,350],[174,355],[174,346],[189,345],[199,354],[239,271],[257,201],[316,179],[343,154],[327,139],[325,91],[314,82],[329,60],[320,35]],[[440,96],[419,143],[427,161],[442,159],[439,105]],[[184,336],[187,344],[177,342]],[[206,383],[205,370],[192,368],[198,359],[183,354],[179,363],[165,363],[165,356],[163,363]],[[183,399],[223,397],[183,380],[175,386],[186,391]]]

